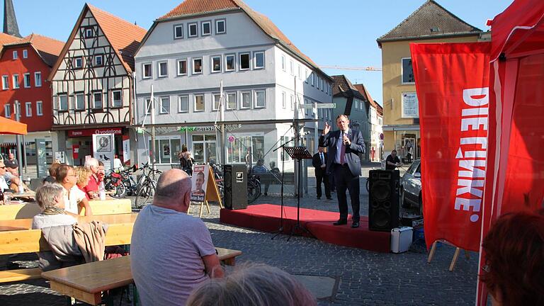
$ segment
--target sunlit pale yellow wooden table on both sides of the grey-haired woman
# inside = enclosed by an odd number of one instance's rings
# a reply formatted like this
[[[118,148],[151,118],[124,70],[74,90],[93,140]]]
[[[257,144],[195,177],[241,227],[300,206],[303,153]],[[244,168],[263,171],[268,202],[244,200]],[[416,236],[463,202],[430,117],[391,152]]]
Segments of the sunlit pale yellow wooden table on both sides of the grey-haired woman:
[[[89,201],[93,215],[117,215],[132,212],[132,203],[129,199],[119,200],[91,200]],[[0,205],[0,220],[29,219],[41,212],[38,203],[23,203]],[[80,215],[84,215],[81,210]]]

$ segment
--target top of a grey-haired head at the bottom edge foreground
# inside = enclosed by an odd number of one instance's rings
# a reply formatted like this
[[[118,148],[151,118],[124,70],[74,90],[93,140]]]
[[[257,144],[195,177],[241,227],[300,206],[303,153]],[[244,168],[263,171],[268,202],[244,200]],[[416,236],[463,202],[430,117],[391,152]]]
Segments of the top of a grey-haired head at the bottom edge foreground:
[[[187,306],[313,306],[317,301],[289,273],[266,264],[239,266],[191,293]]]

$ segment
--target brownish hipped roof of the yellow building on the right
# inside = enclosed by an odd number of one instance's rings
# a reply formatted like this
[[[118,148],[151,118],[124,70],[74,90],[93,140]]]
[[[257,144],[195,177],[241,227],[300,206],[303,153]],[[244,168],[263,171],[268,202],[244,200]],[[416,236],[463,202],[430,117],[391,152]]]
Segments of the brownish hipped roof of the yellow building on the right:
[[[471,26],[443,8],[434,0],[427,0],[402,23],[378,38],[382,42],[414,40],[441,36],[479,35],[482,30]]]

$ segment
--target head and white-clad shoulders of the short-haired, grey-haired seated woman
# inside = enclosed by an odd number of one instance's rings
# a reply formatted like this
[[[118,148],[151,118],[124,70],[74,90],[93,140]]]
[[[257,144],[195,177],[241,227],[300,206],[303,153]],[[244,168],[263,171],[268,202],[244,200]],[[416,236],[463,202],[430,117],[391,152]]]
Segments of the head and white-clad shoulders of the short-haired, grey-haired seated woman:
[[[57,225],[73,225],[77,220],[64,211],[64,188],[59,184],[45,183],[36,191],[36,202],[42,212],[32,220],[33,229]]]

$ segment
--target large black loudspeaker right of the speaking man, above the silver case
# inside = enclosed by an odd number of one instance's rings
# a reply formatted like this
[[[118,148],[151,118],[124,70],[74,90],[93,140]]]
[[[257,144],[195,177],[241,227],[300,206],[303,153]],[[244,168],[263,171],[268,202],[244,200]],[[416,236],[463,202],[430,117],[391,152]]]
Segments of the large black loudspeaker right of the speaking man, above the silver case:
[[[370,170],[368,179],[368,229],[390,232],[399,227],[399,171]]]

